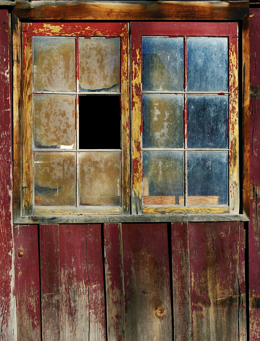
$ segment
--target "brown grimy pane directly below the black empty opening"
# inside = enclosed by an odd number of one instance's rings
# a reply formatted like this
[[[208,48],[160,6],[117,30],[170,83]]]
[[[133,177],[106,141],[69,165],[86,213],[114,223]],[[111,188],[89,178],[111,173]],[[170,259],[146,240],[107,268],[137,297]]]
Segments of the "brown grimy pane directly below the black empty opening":
[[[120,206],[121,153],[79,153],[79,204]]]

